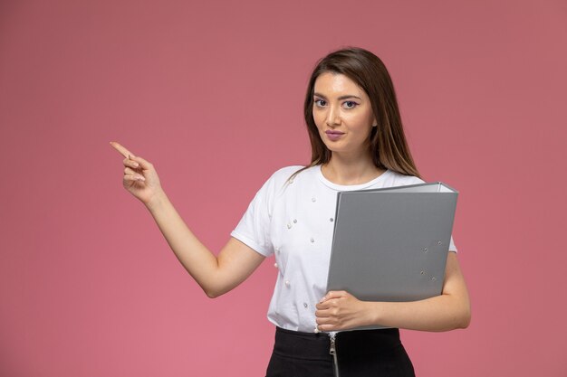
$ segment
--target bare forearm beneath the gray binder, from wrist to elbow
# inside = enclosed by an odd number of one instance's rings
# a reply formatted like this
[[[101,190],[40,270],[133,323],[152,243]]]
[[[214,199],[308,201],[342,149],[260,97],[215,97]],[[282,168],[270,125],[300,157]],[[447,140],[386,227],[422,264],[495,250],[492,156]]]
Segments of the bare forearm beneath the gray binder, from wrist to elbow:
[[[366,302],[365,306],[368,325],[448,331],[470,322],[468,299],[450,295],[412,302]]]

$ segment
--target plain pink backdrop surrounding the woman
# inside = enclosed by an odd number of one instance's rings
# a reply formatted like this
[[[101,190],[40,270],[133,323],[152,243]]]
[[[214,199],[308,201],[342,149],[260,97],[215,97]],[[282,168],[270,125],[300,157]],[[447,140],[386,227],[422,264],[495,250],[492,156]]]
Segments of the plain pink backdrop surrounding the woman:
[[[264,375],[273,261],[208,299],[108,142],[219,250],[308,162],[306,82],[345,45],[386,62],[422,174],[461,193],[473,321],[404,331],[418,375],[567,375],[563,0],[2,0],[0,375]]]

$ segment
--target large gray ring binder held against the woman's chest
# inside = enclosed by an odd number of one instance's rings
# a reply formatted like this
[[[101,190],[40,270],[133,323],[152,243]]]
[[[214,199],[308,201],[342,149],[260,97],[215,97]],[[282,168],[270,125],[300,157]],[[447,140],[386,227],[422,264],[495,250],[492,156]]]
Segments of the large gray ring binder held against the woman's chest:
[[[327,290],[364,301],[440,295],[457,194],[440,182],[338,193]]]

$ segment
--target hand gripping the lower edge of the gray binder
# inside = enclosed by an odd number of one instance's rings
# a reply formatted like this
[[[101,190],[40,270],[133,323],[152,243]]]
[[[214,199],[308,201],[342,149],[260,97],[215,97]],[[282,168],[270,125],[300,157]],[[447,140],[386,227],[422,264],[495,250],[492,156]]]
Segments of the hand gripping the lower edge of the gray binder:
[[[368,325],[368,303],[344,290],[328,292],[316,307],[315,317],[320,331],[337,331]]]

